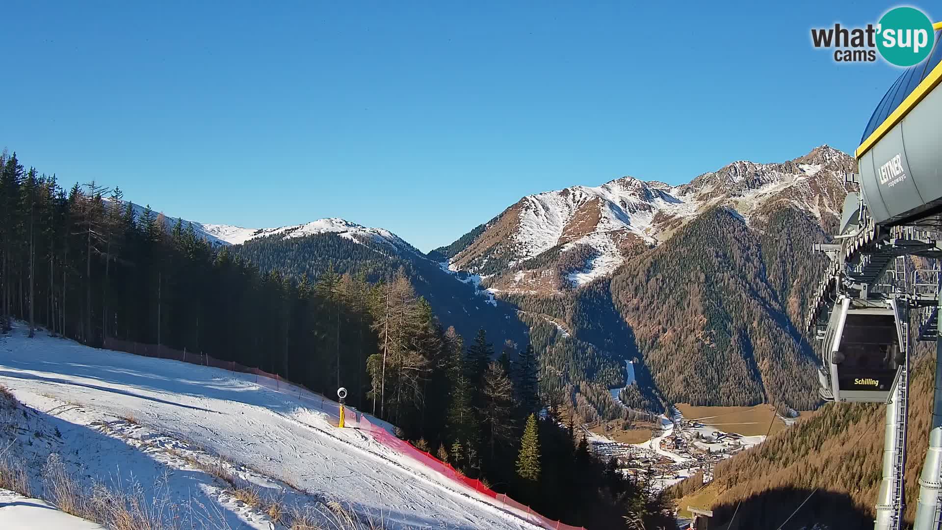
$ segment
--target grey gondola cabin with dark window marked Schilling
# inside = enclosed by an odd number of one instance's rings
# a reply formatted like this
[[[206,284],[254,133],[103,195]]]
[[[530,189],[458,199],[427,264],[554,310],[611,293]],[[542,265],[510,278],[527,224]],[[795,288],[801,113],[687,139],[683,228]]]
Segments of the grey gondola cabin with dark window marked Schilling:
[[[903,362],[901,337],[895,301],[838,297],[821,343],[821,397],[885,403]]]

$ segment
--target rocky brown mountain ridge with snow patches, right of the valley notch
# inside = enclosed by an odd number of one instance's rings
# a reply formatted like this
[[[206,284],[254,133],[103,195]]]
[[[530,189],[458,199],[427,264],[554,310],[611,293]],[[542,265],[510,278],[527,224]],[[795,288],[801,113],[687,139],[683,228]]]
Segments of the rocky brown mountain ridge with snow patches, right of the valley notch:
[[[779,202],[817,217],[839,214],[843,174],[853,158],[828,146],[781,163],[738,160],[671,186],[623,176],[601,186],[574,186],[528,195],[507,208],[476,240],[451,257],[453,269],[499,274],[560,247],[593,249],[585,268],[568,275],[574,285],[613,272],[625,251],[653,246],[711,207],[727,207],[747,223]],[[529,290],[528,286],[502,286]]]

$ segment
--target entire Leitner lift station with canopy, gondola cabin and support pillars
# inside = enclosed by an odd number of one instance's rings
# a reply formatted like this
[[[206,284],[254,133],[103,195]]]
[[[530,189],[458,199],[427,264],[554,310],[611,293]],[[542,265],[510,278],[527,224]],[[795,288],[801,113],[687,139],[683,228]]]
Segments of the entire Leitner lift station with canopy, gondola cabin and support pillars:
[[[814,247],[828,265],[806,315],[821,398],[886,404],[875,530],[904,524],[911,341],[934,340],[937,361],[942,348],[942,23],[934,28],[929,58],[906,69],[870,116],[858,173],[845,178],[859,192],[847,194],[834,242]],[[917,269],[911,257],[934,259],[934,268]],[[942,362],[935,372],[914,530],[942,530]]]

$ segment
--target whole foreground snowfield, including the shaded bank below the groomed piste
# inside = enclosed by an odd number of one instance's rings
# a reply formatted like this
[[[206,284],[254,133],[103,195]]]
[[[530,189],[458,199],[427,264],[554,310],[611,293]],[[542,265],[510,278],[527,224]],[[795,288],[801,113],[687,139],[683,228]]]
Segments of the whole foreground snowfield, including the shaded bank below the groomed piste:
[[[0,337],[0,385],[36,409],[24,409],[27,432],[14,448],[29,462],[35,496],[42,465],[56,453],[89,484],[159,488],[173,503],[197,505],[232,528],[268,529],[270,521],[262,508],[235,499],[207,466],[286,505],[336,501],[386,529],[542,527],[361,430],[338,429],[333,402],[323,402],[324,412],[312,399],[254,381],[246,373],[89,348],[41,330],[28,339],[23,323]],[[22,510],[0,508],[0,528],[17,527],[10,513]]]

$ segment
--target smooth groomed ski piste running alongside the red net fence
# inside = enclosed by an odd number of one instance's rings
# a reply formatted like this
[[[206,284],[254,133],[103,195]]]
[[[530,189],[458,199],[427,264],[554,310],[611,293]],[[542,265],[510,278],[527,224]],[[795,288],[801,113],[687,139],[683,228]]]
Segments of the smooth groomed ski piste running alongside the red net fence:
[[[145,438],[165,439],[165,445],[187,443],[205,454],[223,455],[260,475],[252,482],[263,489],[266,478],[289,484],[317,498],[382,514],[390,529],[541,527],[525,521],[526,514],[495,505],[493,499],[448,480],[358,429],[334,427],[336,405],[332,402],[325,401],[321,411],[311,399],[299,400],[298,395],[254,381],[250,374],[89,348],[48,337],[44,331],[28,339],[23,324],[0,338],[0,385],[12,390],[24,405],[77,428],[90,428],[96,418],[98,422],[133,418],[138,427],[113,422],[117,428],[112,431],[144,429],[151,433]],[[135,445],[133,440],[140,438],[122,439]],[[88,441],[92,437],[83,439],[85,445],[94,443]],[[122,468],[125,455],[114,451],[113,441],[108,440],[110,449],[60,450],[79,458],[89,455],[97,466],[89,466],[89,474],[104,471],[108,465],[113,466],[111,472],[135,469],[126,462]],[[148,444],[149,451],[153,445]],[[100,455],[103,449],[107,455]],[[143,445],[132,447],[134,458],[143,449]],[[219,505],[234,509],[230,503]],[[245,527],[268,527],[257,518],[236,515]]]

